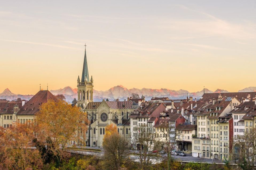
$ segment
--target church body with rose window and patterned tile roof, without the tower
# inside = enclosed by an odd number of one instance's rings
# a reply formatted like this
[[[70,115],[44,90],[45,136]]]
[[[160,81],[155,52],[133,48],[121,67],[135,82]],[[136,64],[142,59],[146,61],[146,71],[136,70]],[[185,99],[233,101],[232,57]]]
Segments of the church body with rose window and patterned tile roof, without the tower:
[[[83,110],[88,114],[90,125],[86,132],[87,146],[101,147],[105,128],[115,124],[118,133],[127,140],[130,139],[130,118],[138,105],[133,101],[105,101],[89,102]]]

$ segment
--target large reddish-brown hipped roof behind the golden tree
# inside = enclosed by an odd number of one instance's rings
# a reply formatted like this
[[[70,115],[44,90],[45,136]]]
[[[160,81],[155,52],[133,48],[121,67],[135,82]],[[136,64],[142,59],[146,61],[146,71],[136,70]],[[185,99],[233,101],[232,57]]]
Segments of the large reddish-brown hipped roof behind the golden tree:
[[[25,103],[17,114],[36,114],[40,111],[41,104],[57,98],[48,90],[40,90],[27,103]]]

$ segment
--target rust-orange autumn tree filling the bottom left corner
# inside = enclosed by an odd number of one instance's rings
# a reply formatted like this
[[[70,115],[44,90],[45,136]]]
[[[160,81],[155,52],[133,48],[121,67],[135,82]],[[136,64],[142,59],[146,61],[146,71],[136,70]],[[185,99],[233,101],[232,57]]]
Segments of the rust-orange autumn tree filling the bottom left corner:
[[[33,130],[28,125],[0,127],[0,169],[41,169],[41,154],[33,146]]]

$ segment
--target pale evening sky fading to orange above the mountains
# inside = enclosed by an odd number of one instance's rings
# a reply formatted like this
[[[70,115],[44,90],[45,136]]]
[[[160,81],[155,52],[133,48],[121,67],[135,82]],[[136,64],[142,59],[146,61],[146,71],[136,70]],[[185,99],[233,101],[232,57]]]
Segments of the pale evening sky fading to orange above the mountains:
[[[256,1],[2,1],[0,93],[256,86]]]

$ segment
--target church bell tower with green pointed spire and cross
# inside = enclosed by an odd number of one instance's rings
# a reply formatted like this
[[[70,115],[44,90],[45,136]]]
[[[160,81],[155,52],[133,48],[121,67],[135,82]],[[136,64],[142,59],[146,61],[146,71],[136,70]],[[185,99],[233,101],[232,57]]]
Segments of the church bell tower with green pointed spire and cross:
[[[84,65],[81,81],[78,76],[77,79],[77,105],[85,108],[89,102],[93,102],[93,79],[89,80],[88,65],[86,58],[86,44],[84,52]]]

